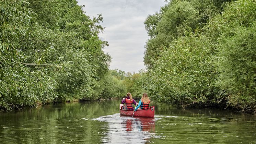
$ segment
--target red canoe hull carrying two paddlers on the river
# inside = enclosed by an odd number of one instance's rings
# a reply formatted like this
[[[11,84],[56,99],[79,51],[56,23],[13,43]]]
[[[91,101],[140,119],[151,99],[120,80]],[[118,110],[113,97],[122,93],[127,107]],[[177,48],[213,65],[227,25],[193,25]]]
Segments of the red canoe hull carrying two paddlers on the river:
[[[133,115],[133,110],[125,110],[125,109],[120,109],[120,114],[124,116],[130,116],[132,117]],[[155,115],[155,106],[151,106],[149,108],[145,109],[138,109],[134,112],[133,117],[148,117],[148,118],[153,118]]]

